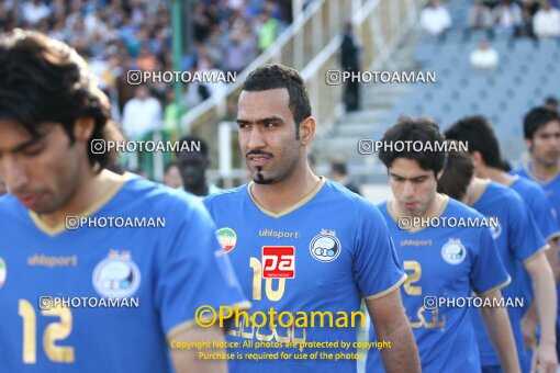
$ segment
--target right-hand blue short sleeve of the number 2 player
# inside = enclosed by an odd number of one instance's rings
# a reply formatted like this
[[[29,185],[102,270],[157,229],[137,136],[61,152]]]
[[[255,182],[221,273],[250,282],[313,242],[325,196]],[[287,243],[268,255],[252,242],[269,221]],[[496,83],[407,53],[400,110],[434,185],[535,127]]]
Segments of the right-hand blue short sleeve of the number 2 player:
[[[472,250],[470,282],[474,292],[483,295],[506,286],[512,279],[497,253],[490,228],[475,231],[479,234],[479,247]]]

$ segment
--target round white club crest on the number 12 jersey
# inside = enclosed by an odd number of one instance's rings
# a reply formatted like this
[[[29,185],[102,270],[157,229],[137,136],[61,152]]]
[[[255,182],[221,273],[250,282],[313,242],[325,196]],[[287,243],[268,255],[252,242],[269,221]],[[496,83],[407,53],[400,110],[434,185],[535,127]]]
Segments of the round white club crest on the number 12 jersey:
[[[141,273],[128,251],[111,250],[93,270],[93,287],[101,296],[123,298],[138,290]]]

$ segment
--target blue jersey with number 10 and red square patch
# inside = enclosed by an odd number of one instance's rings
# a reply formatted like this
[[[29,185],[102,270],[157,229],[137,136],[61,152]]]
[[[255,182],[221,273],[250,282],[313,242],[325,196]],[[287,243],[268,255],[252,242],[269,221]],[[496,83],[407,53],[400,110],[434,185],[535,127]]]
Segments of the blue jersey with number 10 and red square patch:
[[[357,312],[362,297],[381,297],[404,282],[406,275],[399,265],[387,224],[371,202],[322,178],[303,201],[276,214],[254,200],[251,185],[214,194],[204,203],[249,295],[254,315],[273,308],[293,315],[305,313],[310,318],[312,313],[328,312],[337,319],[336,315]],[[275,257],[287,261],[283,270],[273,265],[270,258]],[[357,350],[352,343],[357,328],[344,327],[344,323],[329,327],[327,319],[320,327],[318,321],[315,317],[314,327],[234,327],[229,340],[245,346],[238,351],[256,353],[262,360],[233,360],[232,372],[355,372]],[[281,344],[256,349],[259,341]],[[341,341],[350,343],[349,348],[341,348]],[[300,343],[300,348],[282,348],[283,342]],[[292,355],[270,360],[261,355],[265,351]],[[299,353],[314,352],[334,355],[296,360],[302,359]]]

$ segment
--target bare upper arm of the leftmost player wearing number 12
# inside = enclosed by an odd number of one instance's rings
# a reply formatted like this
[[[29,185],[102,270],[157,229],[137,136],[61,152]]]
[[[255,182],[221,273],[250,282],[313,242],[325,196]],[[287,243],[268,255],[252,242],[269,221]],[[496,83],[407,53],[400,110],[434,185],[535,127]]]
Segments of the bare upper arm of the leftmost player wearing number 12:
[[[199,357],[199,354],[208,353],[225,353],[224,349],[213,348],[213,342],[224,341],[223,329],[213,326],[210,328],[201,328],[197,325],[179,332],[173,337],[172,346],[180,342],[200,342],[198,348],[178,349],[170,347],[171,360],[177,373],[225,373],[227,372],[227,363],[225,359],[209,359]],[[184,346],[184,344],[183,344]]]

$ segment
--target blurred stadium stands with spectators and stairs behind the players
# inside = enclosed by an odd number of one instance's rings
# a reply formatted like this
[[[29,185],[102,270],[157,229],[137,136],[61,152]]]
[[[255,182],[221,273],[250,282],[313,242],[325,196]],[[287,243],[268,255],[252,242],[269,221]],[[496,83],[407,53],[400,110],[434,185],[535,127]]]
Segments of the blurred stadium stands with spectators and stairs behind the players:
[[[208,144],[206,182],[246,181],[236,102],[266,63],[305,79],[318,133],[316,173],[374,202],[387,171],[358,142],[379,139],[400,115],[443,128],[464,115],[490,118],[512,165],[525,157],[522,121],[559,94],[558,1],[425,0],[3,0],[0,32],[41,31],[82,55],[128,139]],[[328,84],[328,70],[435,71],[436,82]],[[128,70],[232,71],[232,83],[128,84]],[[125,154],[120,168],[181,188],[173,154]],[[116,167],[115,167],[116,168]],[[206,170],[208,168],[208,170]]]

